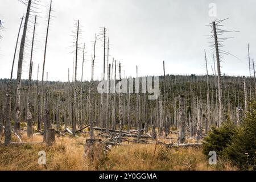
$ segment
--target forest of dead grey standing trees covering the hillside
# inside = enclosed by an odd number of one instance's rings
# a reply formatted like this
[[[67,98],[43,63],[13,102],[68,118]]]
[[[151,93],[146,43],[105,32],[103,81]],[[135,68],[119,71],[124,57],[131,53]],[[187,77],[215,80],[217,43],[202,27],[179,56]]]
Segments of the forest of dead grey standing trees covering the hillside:
[[[147,77],[130,78],[139,80],[139,93],[111,93],[110,82],[118,86],[118,82],[129,79],[122,74],[122,60],[109,56],[109,38],[107,28],[100,28],[95,34],[94,52],[91,67],[84,68],[85,44],[80,42],[81,24],[75,21],[72,32],[73,68],[67,71],[67,82],[48,81],[48,72],[44,70],[47,62],[47,41],[51,34],[49,25],[52,16],[52,1],[49,5],[48,23],[45,36],[44,57],[42,67],[33,64],[34,39],[36,35],[36,11],[38,1],[22,1],[26,4],[26,14],[20,19],[20,26],[14,47],[13,67],[10,77],[0,80],[0,143],[46,143],[52,146],[56,137],[84,139],[85,156],[93,155],[93,146],[104,144],[105,150],[110,146],[129,146],[134,144],[161,144],[166,147],[198,147],[212,126],[220,127],[224,121],[232,121],[240,125],[246,111],[250,110],[250,101],[256,97],[256,78],[254,60],[250,58],[249,44],[249,77],[228,76],[221,73],[223,56],[230,55],[222,51],[226,34],[236,31],[222,30],[225,20],[209,22],[209,46],[213,55],[202,51],[205,57],[205,72],[200,75],[172,75],[165,67],[165,62],[159,60],[163,73],[159,76],[159,97],[148,100],[150,93],[143,91],[143,81]],[[19,17],[17,17],[19,18]],[[1,23],[1,22],[0,22]],[[28,24],[33,36],[27,37]],[[54,26],[52,24],[51,26]],[[202,24],[202,26],[205,26]],[[225,28],[225,26],[224,26]],[[236,28],[236,27],[234,27]],[[31,30],[30,30],[31,31]],[[233,34],[235,35],[235,34]],[[22,65],[26,42],[30,41],[30,72],[22,79]],[[205,40],[207,41],[207,40]],[[94,75],[97,44],[102,45],[103,70],[101,80]],[[212,45],[211,45],[212,44]],[[82,45],[82,46],[81,46]],[[3,48],[3,47],[2,47]],[[79,52],[82,52],[82,57]],[[79,57],[80,56],[80,57]],[[77,67],[78,61],[82,61]],[[212,64],[213,63],[213,64]],[[14,70],[14,64],[18,70]],[[37,70],[36,79],[32,79],[32,71]],[[42,69],[42,75],[39,75]],[[81,69],[81,75],[77,70]],[[17,72],[17,77],[13,77]],[[41,72],[41,70],[40,70]],[[84,81],[85,72],[91,73],[90,81]],[[126,75],[129,75],[126,73]],[[150,75],[148,75],[150,76]],[[81,78],[81,79],[79,79]],[[98,93],[97,87],[105,81],[107,93]],[[147,82],[148,84],[148,82]],[[130,88],[129,88],[130,91]],[[133,90],[134,92],[134,90]],[[30,142],[23,140],[24,136]],[[33,141],[35,136],[42,140]]]

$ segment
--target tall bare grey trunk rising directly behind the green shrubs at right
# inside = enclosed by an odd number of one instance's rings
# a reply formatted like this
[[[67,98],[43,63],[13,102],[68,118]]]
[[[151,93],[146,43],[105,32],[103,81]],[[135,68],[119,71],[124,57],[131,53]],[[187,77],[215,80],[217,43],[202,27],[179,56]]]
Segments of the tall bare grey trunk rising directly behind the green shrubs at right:
[[[216,58],[217,58],[217,71],[218,71],[218,104],[219,104],[219,121],[218,126],[223,122],[223,109],[222,109],[222,82],[221,82],[221,70],[220,70],[220,53],[218,51],[218,37],[216,31],[216,24],[213,22],[213,32],[215,40]]]

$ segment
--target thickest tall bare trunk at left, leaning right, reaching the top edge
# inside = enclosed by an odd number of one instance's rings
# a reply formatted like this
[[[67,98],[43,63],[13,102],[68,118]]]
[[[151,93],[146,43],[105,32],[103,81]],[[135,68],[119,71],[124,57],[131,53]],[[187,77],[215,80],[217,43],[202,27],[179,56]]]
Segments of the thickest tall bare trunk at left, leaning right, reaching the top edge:
[[[19,63],[18,63],[18,72],[17,72],[17,80],[16,80],[16,102],[15,102],[15,124],[14,130],[19,130],[19,119],[20,119],[20,89],[21,89],[21,77],[22,77],[22,64],[23,64],[23,55],[24,55],[24,47],[26,42],[26,34],[27,34],[27,25],[28,25],[28,18],[30,16],[30,7],[31,7],[31,0],[28,1],[27,5],[27,13],[23,28],[23,35],[22,40],[20,43],[20,50],[19,50]]]

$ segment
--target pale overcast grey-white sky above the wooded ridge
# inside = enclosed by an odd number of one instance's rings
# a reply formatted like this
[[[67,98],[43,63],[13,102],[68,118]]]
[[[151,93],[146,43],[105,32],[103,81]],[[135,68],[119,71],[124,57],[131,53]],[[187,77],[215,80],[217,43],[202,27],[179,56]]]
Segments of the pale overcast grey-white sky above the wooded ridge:
[[[209,4],[216,3],[217,17],[209,16]],[[36,79],[37,67],[42,75],[44,41],[47,28],[49,0],[41,0],[41,13],[36,27],[34,68],[32,78]],[[49,30],[46,72],[49,80],[68,80],[68,68],[72,80],[73,58],[72,31],[75,20],[80,19],[82,34],[80,43],[86,45],[85,80],[90,79],[93,40],[100,27],[108,29],[110,41],[109,60],[121,61],[126,76],[135,76],[136,65],[139,76],[166,74],[205,74],[204,49],[207,50],[209,72],[213,65],[213,51],[207,43],[210,28],[205,25],[214,19],[225,19],[225,30],[238,30],[226,36],[225,51],[237,56],[225,56],[222,73],[225,75],[249,75],[247,43],[250,44],[251,59],[256,51],[256,1],[177,1],[177,0],[53,0],[53,15]],[[20,24],[26,7],[18,0],[1,0],[0,19],[5,27],[0,40],[0,78],[10,77],[11,64]],[[30,16],[30,26],[34,14]],[[32,40],[32,28],[27,40]],[[97,42],[94,78],[100,78],[103,71],[103,43]],[[30,43],[27,43],[22,78],[28,78]],[[78,75],[81,79],[82,54],[79,54]],[[18,65],[18,53],[14,67],[14,77]],[[45,74],[46,75],[46,74]],[[124,72],[122,73],[124,75]],[[41,80],[42,76],[39,76]],[[46,79],[46,78],[45,78]]]

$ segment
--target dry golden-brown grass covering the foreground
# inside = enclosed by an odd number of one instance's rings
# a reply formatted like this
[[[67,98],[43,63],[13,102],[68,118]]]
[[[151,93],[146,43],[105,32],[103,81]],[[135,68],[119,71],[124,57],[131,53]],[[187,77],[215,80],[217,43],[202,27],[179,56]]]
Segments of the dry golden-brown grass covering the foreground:
[[[0,171],[21,170],[193,170],[193,171],[228,171],[236,170],[229,162],[218,160],[217,165],[210,165],[201,147],[167,148],[161,144],[138,144],[123,142],[122,146],[113,146],[107,152],[102,144],[96,144],[94,158],[84,156],[85,139],[88,134],[78,138],[56,137],[56,142],[47,147],[45,143],[23,143],[0,145]],[[13,140],[17,141],[16,137]],[[42,135],[28,139],[22,135],[23,142],[42,142]],[[46,152],[46,165],[40,165],[40,151]]]

